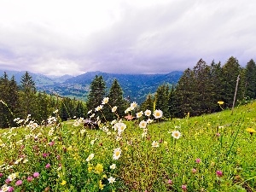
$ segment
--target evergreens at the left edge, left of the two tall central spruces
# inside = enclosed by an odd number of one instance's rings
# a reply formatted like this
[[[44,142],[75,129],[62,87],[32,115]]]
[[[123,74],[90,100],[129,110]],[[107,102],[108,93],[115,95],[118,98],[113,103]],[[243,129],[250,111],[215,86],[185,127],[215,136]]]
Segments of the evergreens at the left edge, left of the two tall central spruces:
[[[27,72],[20,84],[14,76],[9,79],[8,74],[3,73],[0,78],[0,101],[0,128],[16,126],[14,119],[26,119],[28,115],[38,124],[44,124],[56,109],[62,120],[84,117],[87,113],[84,102],[55,93],[38,92],[32,76]]]

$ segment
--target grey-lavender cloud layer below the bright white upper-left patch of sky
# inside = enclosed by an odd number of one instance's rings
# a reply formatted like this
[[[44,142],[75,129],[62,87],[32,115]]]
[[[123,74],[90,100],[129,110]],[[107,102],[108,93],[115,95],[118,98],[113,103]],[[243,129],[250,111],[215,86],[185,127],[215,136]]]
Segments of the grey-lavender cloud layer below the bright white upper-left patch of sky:
[[[0,23],[0,67],[46,74],[169,73],[201,58],[224,64],[231,55],[245,66],[256,61],[255,8],[253,0],[121,3],[119,20],[90,35],[61,32],[47,22]]]

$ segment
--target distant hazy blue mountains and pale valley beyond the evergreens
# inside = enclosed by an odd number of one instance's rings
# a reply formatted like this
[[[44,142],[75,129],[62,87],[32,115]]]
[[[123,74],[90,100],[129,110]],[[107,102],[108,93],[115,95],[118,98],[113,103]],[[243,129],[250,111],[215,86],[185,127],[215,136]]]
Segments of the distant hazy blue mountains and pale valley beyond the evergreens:
[[[1,76],[4,71],[9,78],[13,75],[18,83],[25,71],[0,70]],[[90,90],[90,83],[96,75],[102,75],[106,82],[107,90],[110,89],[113,79],[119,81],[124,91],[125,97],[130,97],[131,102],[143,102],[149,93],[154,94],[160,84],[176,84],[183,72],[174,71],[166,74],[113,74],[102,72],[88,72],[73,77],[70,75],[45,76],[40,73],[30,73],[39,91],[48,94],[57,93],[60,96],[68,96],[82,101],[86,101],[86,96]]]

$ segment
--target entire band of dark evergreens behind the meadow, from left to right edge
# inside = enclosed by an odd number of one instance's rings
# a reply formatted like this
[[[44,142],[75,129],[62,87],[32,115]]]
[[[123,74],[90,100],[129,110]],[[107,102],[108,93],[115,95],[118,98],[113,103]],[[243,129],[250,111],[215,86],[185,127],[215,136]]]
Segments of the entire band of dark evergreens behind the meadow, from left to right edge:
[[[232,108],[236,81],[239,78],[236,105],[256,98],[256,65],[253,60],[241,67],[238,60],[231,56],[222,66],[220,62],[207,64],[202,59],[193,68],[188,68],[177,84],[161,84],[155,93],[149,93],[147,99],[139,105],[137,111],[160,109],[166,118],[183,118],[215,113],[223,108]],[[95,109],[108,97],[107,105],[100,111]],[[129,97],[124,98],[123,90],[117,79],[107,90],[102,76],[97,76],[90,84],[86,102],[75,98],[47,95],[38,92],[32,76],[25,73],[17,84],[15,77],[9,79],[7,73],[0,78],[0,127],[15,126],[13,119],[26,119],[32,115],[38,123],[45,122],[59,110],[61,120],[73,117],[116,119],[116,113],[124,117],[125,109],[130,106]],[[224,102],[219,105],[218,102]],[[116,106],[116,113],[112,108]],[[88,113],[90,112],[91,113]]]

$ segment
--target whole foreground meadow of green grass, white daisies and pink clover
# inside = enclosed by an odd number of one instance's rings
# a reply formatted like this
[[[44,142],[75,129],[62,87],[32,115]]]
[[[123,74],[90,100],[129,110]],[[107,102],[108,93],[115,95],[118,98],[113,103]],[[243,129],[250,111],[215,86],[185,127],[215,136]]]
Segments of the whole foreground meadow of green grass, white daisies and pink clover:
[[[102,114],[108,98],[90,111]],[[161,120],[131,103],[116,120],[48,125],[28,116],[0,130],[0,191],[256,191],[256,103],[201,117]],[[129,118],[128,118],[129,119]]]

